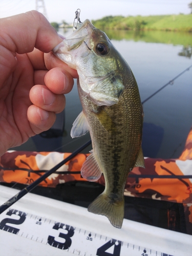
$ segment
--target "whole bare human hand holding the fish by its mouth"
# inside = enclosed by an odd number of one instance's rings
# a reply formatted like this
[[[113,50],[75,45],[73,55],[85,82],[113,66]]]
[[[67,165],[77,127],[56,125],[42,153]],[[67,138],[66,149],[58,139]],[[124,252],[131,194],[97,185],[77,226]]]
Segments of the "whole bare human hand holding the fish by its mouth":
[[[0,156],[50,129],[65,108],[77,72],[50,52],[61,41],[37,11],[0,19]]]

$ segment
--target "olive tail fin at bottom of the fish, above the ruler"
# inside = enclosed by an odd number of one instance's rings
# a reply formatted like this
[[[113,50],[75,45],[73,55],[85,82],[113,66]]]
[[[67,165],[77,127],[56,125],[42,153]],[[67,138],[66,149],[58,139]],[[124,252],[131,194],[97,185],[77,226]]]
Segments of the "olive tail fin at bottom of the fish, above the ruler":
[[[89,205],[88,211],[108,217],[114,227],[121,228],[124,217],[124,198],[122,201],[115,201],[102,193]]]

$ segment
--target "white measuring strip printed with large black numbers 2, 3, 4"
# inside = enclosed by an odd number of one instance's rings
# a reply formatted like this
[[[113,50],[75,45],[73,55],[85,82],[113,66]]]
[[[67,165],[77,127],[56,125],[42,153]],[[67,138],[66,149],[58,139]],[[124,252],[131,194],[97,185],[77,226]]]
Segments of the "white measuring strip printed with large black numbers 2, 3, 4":
[[[0,215],[0,229],[81,256],[173,256],[18,209]]]

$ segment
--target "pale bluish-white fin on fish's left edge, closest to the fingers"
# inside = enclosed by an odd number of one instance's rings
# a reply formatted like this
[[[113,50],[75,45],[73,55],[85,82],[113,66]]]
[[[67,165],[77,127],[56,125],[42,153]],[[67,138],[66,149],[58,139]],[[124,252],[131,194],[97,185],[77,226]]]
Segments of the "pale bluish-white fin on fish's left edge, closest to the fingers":
[[[73,123],[73,127],[71,129],[71,137],[80,137],[89,132],[89,124],[83,112],[81,112]]]

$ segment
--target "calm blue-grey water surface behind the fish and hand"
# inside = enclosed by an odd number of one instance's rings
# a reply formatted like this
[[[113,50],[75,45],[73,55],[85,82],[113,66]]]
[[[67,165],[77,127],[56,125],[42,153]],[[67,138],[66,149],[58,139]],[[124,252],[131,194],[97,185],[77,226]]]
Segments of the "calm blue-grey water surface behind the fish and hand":
[[[179,73],[192,65],[192,34],[174,32],[105,31],[114,46],[129,63],[145,100]],[[72,30],[59,30],[68,36]],[[192,125],[192,68],[143,104],[144,156],[177,158]],[[76,81],[66,95],[65,131],[62,137],[30,139],[17,150],[72,152],[90,139],[89,134],[71,139],[70,130],[81,111]],[[89,152],[91,146],[84,150]]]

